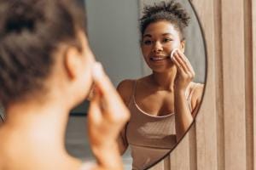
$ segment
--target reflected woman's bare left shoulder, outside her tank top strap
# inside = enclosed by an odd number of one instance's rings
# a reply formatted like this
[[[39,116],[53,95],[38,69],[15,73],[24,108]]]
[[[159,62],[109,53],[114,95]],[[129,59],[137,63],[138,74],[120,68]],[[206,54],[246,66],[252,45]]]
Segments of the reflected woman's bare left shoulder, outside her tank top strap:
[[[135,80],[131,80],[131,79],[126,79],[126,80],[123,80],[122,82],[119,82],[117,91],[119,92],[119,95],[121,96],[121,98],[124,100],[125,105],[129,104],[134,83],[135,83]]]

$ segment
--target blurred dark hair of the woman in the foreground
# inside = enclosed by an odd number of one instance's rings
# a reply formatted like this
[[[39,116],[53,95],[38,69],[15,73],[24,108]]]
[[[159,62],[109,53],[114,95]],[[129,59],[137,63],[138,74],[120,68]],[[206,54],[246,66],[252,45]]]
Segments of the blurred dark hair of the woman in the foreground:
[[[0,103],[44,89],[61,43],[82,49],[84,11],[68,0],[0,0]]]

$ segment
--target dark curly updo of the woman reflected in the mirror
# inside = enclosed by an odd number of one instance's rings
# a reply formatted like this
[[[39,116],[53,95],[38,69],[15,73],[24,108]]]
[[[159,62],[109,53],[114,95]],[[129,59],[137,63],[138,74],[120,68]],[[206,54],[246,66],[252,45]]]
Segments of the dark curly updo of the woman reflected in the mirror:
[[[154,22],[166,20],[172,23],[181,33],[181,38],[184,39],[184,28],[189,26],[190,16],[182,7],[181,3],[176,3],[174,0],[166,3],[154,3],[154,5],[146,5],[143,8],[143,17],[140,19],[140,31],[143,36],[146,28]]]

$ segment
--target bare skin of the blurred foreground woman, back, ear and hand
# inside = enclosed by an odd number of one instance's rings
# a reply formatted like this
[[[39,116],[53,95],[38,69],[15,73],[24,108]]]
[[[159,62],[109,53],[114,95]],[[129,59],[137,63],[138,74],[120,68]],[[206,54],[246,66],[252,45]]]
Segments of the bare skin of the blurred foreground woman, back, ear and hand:
[[[129,113],[102,66],[95,64],[82,31],[78,37],[82,53],[65,43],[55,51],[54,69],[44,80],[47,93],[29,94],[6,108],[0,127],[0,169],[79,169],[82,162],[65,149],[65,130],[69,112],[86,98],[92,83],[96,91],[86,128],[97,161],[93,169],[123,168],[116,139]]]

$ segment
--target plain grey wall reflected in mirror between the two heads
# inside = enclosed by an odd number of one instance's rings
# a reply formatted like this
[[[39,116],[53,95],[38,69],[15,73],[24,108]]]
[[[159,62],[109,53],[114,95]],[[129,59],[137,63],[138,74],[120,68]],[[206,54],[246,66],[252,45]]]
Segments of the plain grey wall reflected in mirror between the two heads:
[[[142,77],[137,0],[86,0],[90,47],[115,86]]]

